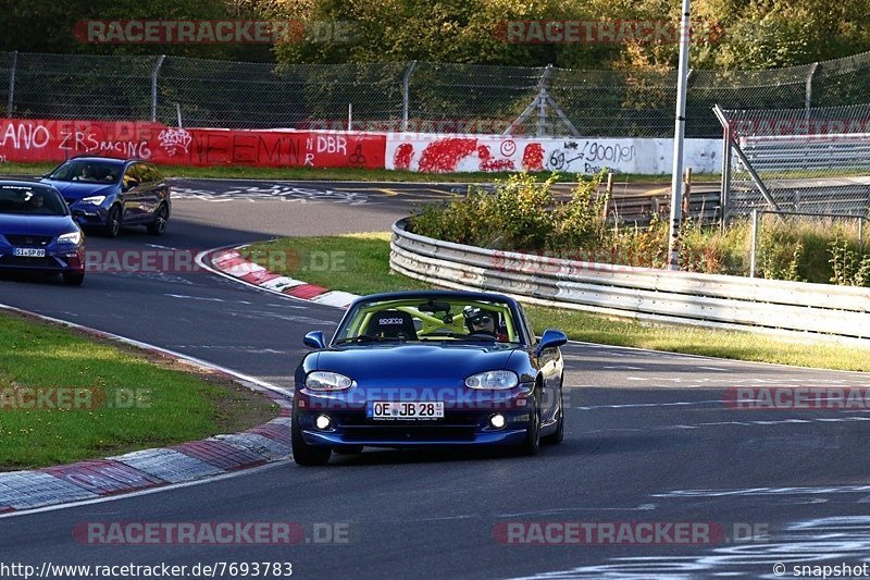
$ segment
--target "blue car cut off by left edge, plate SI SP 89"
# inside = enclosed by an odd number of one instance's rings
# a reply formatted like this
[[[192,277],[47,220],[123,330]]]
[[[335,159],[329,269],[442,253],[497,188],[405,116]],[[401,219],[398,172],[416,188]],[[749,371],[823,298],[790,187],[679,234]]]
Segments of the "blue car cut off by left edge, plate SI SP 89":
[[[50,185],[0,181],[0,269],[85,280],[85,236]]]

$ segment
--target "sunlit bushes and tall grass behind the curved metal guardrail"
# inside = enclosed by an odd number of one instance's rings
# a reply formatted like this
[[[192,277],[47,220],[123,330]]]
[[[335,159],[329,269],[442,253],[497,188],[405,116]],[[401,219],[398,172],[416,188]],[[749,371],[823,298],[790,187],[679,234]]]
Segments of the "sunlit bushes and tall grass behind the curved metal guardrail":
[[[421,213],[411,217],[410,229],[424,236],[480,247],[666,267],[668,221],[655,213],[648,227],[620,225],[618,220],[613,223],[607,214],[610,200],[598,192],[602,177],[581,177],[571,196],[561,200],[552,195],[555,176],[535,183],[529,175],[514,175],[498,182],[494,193],[476,188],[447,206],[424,206]],[[748,220],[735,220],[724,231],[719,224],[685,220],[680,268],[748,275],[750,245]],[[758,232],[756,260],[760,277],[870,286],[870,252],[858,250],[854,224],[767,215]]]

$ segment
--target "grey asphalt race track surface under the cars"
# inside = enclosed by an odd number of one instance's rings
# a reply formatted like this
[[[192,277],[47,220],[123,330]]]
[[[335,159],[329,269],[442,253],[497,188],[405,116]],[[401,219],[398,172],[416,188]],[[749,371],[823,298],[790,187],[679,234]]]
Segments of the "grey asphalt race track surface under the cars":
[[[445,195],[299,184],[309,192],[234,199],[221,194],[237,185],[217,185],[178,184],[200,192],[177,196],[164,237],[135,229],[115,240],[91,236],[89,249],[198,251],[274,235],[385,231],[421,197]],[[302,335],[328,332],[340,316],[204,272],[91,273],[80,288],[4,276],[0,303],[284,386]],[[775,563],[791,570],[870,562],[870,415],[737,410],[723,402],[734,386],[870,386],[870,375],[586,344],[564,354],[566,441],[537,457],[366,451],[334,456],[326,468],[283,462],[2,518],[0,562],[291,562],[303,578],[778,578]],[[346,523],[349,534],[325,544],[309,535],[294,546],[77,542],[73,529],[92,521]],[[529,522],[579,521],[704,523],[722,533],[597,545],[508,545],[501,533],[511,523],[530,530]]]

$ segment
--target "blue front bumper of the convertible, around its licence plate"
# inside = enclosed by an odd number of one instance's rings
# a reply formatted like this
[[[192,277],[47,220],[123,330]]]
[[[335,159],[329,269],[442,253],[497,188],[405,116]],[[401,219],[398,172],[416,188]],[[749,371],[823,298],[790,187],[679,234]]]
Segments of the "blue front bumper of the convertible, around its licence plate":
[[[531,393],[525,388],[508,393],[483,393],[472,404],[445,402],[445,416],[432,420],[384,420],[368,416],[368,400],[349,402],[341,395],[296,393],[294,420],[308,445],[370,447],[510,446],[526,435],[532,412]],[[419,400],[432,400],[422,398]],[[505,427],[493,428],[489,418],[502,415]],[[315,419],[330,418],[328,429],[318,429]]]

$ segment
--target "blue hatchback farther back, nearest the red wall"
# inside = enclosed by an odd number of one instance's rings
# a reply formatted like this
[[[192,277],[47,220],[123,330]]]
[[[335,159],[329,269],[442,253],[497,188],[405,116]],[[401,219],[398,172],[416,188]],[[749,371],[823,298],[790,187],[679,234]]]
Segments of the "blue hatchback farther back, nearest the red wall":
[[[74,157],[46,175],[83,227],[115,237],[124,225],[145,225],[162,235],[172,210],[170,186],[147,161],[105,157]]]

